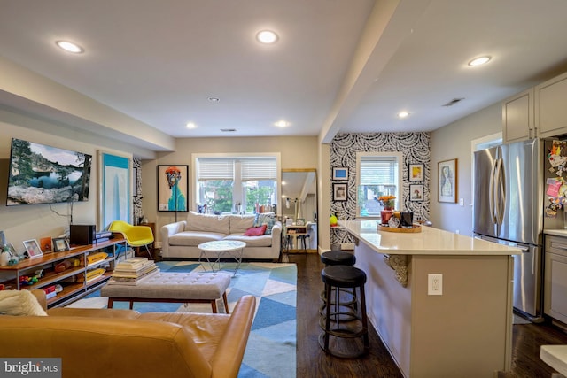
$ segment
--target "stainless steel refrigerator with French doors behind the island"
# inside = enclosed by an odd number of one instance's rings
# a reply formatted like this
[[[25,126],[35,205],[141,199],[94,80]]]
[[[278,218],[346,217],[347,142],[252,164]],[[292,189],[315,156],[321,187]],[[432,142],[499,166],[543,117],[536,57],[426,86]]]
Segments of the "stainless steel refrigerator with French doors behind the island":
[[[473,232],[522,249],[514,257],[514,307],[541,315],[544,145],[540,139],[474,154]]]

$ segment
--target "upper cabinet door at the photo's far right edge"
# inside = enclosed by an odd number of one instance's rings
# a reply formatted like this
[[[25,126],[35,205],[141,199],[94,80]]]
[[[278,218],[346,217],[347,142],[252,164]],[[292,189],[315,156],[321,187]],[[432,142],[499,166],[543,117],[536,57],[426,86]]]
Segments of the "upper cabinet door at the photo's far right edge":
[[[567,134],[567,73],[535,87],[535,125],[542,138]]]

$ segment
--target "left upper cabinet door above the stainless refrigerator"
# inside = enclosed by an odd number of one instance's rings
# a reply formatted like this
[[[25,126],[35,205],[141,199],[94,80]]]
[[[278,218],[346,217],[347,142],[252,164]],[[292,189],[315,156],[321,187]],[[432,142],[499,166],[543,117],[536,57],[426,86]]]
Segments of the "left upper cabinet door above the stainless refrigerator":
[[[515,142],[535,137],[533,127],[534,89],[527,89],[502,104],[502,135],[504,142]]]

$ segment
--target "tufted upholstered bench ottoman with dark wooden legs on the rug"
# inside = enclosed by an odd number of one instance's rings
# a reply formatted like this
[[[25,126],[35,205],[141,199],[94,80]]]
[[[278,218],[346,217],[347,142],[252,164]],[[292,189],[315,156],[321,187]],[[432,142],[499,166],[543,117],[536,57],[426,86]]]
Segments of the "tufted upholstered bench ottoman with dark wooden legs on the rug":
[[[136,285],[106,284],[100,289],[101,297],[108,297],[108,308],[114,302],[169,302],[210,303],[216,313],[216,300],[222,297],[224,309],[229,313],[227,288],[230,274],[216,273],[159,273]]]

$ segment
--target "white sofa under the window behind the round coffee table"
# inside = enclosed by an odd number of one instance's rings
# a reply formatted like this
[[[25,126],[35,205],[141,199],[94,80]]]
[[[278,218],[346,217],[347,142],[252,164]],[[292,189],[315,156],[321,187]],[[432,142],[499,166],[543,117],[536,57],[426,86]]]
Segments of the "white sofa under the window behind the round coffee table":
[[[189,212],[187,220],[165,225],[160,230],[162,258],[198,258],[198,244],[214,240],[238,240],[246,246],[242,258],[280,258],[281,222],[275,222],[271,233],[245,236],[254,226],[254,215],[208,215]]]

